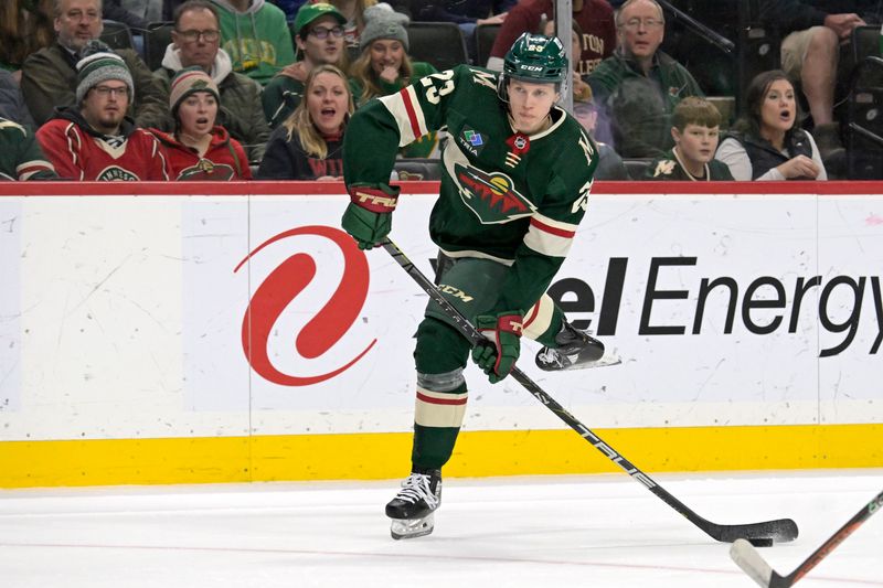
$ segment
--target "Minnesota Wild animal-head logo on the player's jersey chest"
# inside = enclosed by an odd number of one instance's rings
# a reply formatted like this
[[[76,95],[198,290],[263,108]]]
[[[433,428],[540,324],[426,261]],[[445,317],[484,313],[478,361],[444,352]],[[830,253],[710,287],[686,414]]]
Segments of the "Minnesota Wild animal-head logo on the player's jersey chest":
[[[481,224],[500,224],[530,216],[536,207],[504,173],[486,173],[471,165],[455,165],[460,197]]]

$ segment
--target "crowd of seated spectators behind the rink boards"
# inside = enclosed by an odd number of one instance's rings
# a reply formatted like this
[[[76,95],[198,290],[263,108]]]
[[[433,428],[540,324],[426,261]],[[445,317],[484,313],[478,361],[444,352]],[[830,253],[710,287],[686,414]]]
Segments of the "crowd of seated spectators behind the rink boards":
[[[736,2],[720,3],[721,30]],[[0,8],[0,179],[339,179],[353,109],[438,75],[409,54],[409,21],[456,23],[469,58],[493,71],[520,33],[554,33],[554,4],[10,0]],[[690,56],[663,51],[656,0],[573,0],[573,114],[598,143],[597,179],[845,178],[840,55],[857,26],[880,23],[881,2],[758,6],[781,34],[781,70],[752,81],[731,121],[705,99],[708,73],[694,77]],[[134,49],[104,44],[105,20],[128,25]],[[143,36],[156,21],[172,22],[171,43],[151,72]],[[475,63],[481,25],[498,31],[487,63]],[[443,142],[428,135],[400,157],[438,158]]]

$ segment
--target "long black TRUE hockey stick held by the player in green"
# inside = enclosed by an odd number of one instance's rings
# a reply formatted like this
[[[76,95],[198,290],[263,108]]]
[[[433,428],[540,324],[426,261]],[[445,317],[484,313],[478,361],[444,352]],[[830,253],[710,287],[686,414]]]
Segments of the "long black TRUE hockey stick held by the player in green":
[[[411,260],[402,253],[390,239],[381,242],[384,249],[395,259],[402,268],[407,271],[408,276],[414,278],[423,290],[429,295],[438,306],[445,311],[448,318],[456,324],[460,333],[464,334],[474,345],[487,341],[485,336],[479,333],[475,327],[457,310],[447,299],[438,291],[438,288],[424,276],[424,274],[411,263]],[[680,500],[671,495],[666,489],[657,484],[649,475],[636,468],[629,460],[617,452],[609,445],[604,442],[600,437],[592,432],[585,425],[579,423],[573,415],[564,409],[554,398],[543,392],[526,374],[515,366],[512,370],[512,377],[524,386],[538,400],[552,410],[557,417],[567,424],[573,430],[579,434],[586,441],[592,443],[598,451],[605,455],[607,459],[623,468],[631,478],[642,483],[650,492],[656,494],[666,504],[674,509],[677,512],[687,517],[688,521],[704,531],[712,538],[724,542],[733,543],[735,539],[743,537],[756,545],[772,545],[773,542],[788,542],[797,537],[797,524],[790,518],[778,518],[775,521],[765,521],[763,523],[752,523],[744,525],[719,525],[706,521]]]

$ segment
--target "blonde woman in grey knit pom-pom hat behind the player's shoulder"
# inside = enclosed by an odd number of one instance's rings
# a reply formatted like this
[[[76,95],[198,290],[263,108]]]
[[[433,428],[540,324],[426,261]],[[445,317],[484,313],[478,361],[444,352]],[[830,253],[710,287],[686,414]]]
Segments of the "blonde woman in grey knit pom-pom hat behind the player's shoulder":
[[[371,98],[389,96],[417,79],[437,73],[428,63],[408,57],[405,25],[408,18],[386,4],[365,10],[362,53],[350,66],[350,89],[357,107]],[[429,133],[403,149],[402,156],[427,158],[436,149],[436,133]]]

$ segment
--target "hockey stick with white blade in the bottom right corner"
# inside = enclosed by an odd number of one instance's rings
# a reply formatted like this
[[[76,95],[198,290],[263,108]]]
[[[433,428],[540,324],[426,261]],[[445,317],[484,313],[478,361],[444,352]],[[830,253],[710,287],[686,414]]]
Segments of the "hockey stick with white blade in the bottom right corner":
[[[733,558],[733,562],[738,564],[738,567],[745,570],[745,574],[754,578],[754,581],[760,586],[765,588],[788,588],[806,576],[819,562],[828,557],[838,545],[843,543],[843,539],[852,535],[853,531],[859,528],[862,523],[871,518],[871,515],[880,510],[883,510],[883,492],[874,496],[861,511],[855,513],[855,516],[837,530],[837,533],[828,537],[828,541],[822,543],[821,547],[812,552],[812,555],[807,557],[802,564],[797,566],[797,569],[787,576],[779,576],[776,570],[766,563],[760,554],[757,553],[757,549],[746,541],[737,539],[733,543],[733,546],[730,547],[730,557]]]

